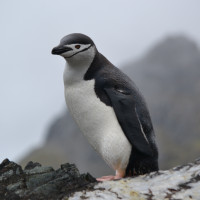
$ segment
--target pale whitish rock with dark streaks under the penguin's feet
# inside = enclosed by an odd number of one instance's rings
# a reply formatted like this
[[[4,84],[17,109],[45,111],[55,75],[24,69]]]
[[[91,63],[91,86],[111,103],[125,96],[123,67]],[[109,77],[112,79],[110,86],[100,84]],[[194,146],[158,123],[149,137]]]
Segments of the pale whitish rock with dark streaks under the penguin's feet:
[[[79,199],[200,199],[200,158],[194,163],[175,167],[167,171],[99,183],[92,189],[76,192],[69,198],[69,200]]]

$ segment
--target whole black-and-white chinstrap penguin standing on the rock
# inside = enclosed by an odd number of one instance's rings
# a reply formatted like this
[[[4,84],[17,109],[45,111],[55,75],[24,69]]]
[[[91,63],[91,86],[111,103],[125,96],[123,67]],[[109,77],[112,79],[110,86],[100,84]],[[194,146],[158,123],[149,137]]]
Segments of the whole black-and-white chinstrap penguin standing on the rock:
[[[116,171],[98,181],[158,170],[158,150],[144,98],[133,81],[86,35],[61,39],[52,54],[66,60],[65,99],[84,136]]]

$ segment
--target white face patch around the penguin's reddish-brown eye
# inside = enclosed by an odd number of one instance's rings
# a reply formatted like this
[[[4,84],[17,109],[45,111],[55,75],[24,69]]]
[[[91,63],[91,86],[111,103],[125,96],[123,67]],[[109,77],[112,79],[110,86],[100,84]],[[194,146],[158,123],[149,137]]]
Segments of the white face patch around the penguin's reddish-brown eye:
[[[60,55],[65,59],[70,59],[72,57],[77,57],[78,54],[83,54],[83,52],[87,51],[91,47],[91,44],[68,44],[64,45],[64,47],[69,47],[72,50],[64,52]]]

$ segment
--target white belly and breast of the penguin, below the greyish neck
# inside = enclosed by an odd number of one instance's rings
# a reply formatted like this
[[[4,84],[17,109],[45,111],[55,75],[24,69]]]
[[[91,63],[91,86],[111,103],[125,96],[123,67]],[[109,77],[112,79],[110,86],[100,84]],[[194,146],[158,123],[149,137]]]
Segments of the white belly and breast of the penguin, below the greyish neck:
[[[97,98],[94,80],[65,84],[67,106],[94,149],[114,170],[126,169],[131,145],[113,109]]]

